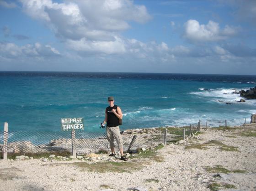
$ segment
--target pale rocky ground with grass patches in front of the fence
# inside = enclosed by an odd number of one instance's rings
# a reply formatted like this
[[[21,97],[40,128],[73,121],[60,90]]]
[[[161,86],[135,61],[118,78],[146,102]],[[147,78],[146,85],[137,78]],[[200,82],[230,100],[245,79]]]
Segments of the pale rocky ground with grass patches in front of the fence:
[[[0,160],[0,190],[256,190],[256,124],[205,129],[126,162],[51,157]]]

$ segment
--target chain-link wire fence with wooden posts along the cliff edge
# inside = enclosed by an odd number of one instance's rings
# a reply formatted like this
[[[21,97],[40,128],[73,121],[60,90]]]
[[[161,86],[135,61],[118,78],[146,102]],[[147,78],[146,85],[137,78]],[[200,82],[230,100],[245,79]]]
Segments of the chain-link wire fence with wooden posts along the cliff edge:
[[[136,150],[143,147],[154,147],[161,143],[176,143],[179,140],[191,137],[202,128],[234,126],[232,120],[199,120],[197,124],[186,127],[129,129],[122,133],[123,149]],[[245,123],[246,124],[246,121]],[[135,135],[135,136],[134,136]],[[135,140],[133,140],[135,139]],[[132,142],[133,140],[133,142]],[[117,142],[115,140],[117,148]],[[110,145],[106,133],[85,131],[0,131],[0,157],[4,153],[27,155],[39,153],[76,151],[78,155],[98,153],[101,150],[109,151]]]

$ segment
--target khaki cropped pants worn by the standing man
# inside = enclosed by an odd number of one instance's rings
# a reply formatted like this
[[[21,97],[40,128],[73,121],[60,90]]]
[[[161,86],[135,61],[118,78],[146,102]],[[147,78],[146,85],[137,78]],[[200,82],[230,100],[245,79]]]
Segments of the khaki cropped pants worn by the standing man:
[[[117,127],[106,127],[107,130],[107,140],[110,143],[110,147],[115,147],[114,144],[114,137],[117,140],[117,145],[119,150],[123,149],[123,138],[122,135],[120,134],[120,129],[119,126]]]

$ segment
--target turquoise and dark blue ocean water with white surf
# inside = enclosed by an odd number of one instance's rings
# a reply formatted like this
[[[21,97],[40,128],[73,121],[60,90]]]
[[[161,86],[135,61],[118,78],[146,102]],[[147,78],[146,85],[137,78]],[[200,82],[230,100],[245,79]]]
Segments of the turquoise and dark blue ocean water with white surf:
[[[255,86],[256,76],[0,72],[0,131],[5,121],[10,130],[60,131],[61,118],[83,117],[85,131],[101,132],[108,96],[123,111],[121,129],[182,126],[199,119],[241,124],[256,113],[256,100],[238,103],[239,94],[232,92]]]

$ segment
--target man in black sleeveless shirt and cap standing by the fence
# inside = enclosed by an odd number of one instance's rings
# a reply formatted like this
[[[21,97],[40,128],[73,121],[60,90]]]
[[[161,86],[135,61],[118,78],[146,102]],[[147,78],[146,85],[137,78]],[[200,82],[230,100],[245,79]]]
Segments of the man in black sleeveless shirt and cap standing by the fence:
[[[121,160],[128,160],[125,155],[123,155],[123,139],[120,134],[119,129],[119,119],[123,118],[123,114],[121,108],[117,105],[114,105],[114,97],[110,96],[107,98],[109,106],[105,110],[105,120],[103,124],[105,125],[107,122],[107,140],[110,143],[111,154],[109,156],[115,155],[115,145],[114,145],[114,137],[117,140],[117,145],[121,154]]]

